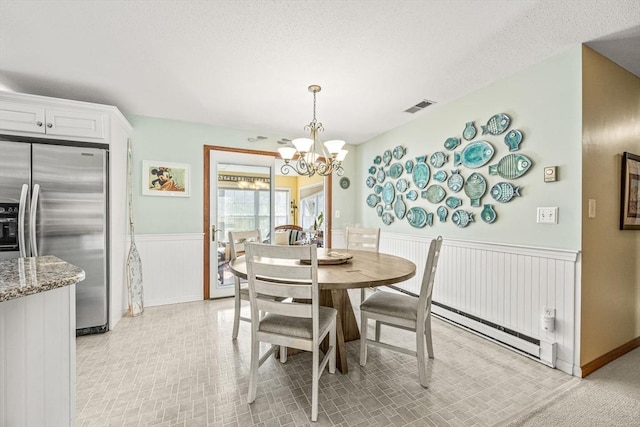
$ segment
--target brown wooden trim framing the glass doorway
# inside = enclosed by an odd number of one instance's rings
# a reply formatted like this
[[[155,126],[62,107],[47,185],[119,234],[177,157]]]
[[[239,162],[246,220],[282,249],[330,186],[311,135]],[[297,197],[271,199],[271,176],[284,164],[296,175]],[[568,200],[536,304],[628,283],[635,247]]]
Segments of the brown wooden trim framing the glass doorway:
[[[209,194],[211,191],[211,184],[209,182],[209,174],[211,173],[211,165],[209,162],[209,158],[210,158],[210,154],[211,151],[225,151],[225,152],[232,152],[232,153],[245,153],[245,154],[254,154],[254,155],[262,155],[262,156],[271,156],[271,157],[275,157],[275,158],[280,158],[280,154],[276,151],[263,151],[263,150],[250,150],[250,149],[246,149],[246,148],[235,148],[235,147],[223,147],[220,145],[204,145],[203,146],[203,160],[204,160],[204,167],[203,167],[203,206],[202,206],[202,210],[203,210],[203,232],[204,232],[204,244],[202,245],[203,250],[202,250],[202,266],[203,266],[203,295],[204,295],[204,300],[208,300],[210,297],[210,293],[209,293],[209,284],[210,284],[210,274],[211,274],[211,269],[210,269],[210,265],[209,265],[209,255],[210,255],[210,249],[211,249],[211,224],[209,221],[209,214],[210,214],[210,204],[211,204],[211,200],[209,198]],[[325,198],[324,198],[324,204],[325,204],[325,212],[329,212],[329,215],[326,215],[325,218],[325,236],[324,236],[324,243],[325,243],[325,247],[330,248],[331,247],[331,212],[332,212],[332,184],[333,184],[333,176],[329,175],[326,177],[325,181],[324,181],[324,191],[325,191]]]

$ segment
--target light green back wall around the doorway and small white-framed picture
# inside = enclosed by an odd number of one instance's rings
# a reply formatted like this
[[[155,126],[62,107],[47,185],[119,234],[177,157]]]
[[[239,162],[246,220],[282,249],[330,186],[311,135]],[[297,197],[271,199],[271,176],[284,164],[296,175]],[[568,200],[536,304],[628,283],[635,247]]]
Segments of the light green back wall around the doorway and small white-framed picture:
[[[134,218],[136,234],[175,234],[203,232],[203,147],[219,145],[260,151],[277,151],[279,136],[255,130],[237,129],[128,115],[133,126]],[[247,138],[267,136],[267,140],[249,142]],[[353,170],[356,148],[349,146],[345,170]],[[159,160],[191,165],[190,197],[159,197],[142,195],[142,161]],[[334,181],[334,210],[341,210],[340,221],[353,223],[353,198],[344,197],[338,180]],[[344,205],[344,206],[343,206]],[[334,220],[336,221],[336,220]],[[336,222],[334,222],[335,228]]]

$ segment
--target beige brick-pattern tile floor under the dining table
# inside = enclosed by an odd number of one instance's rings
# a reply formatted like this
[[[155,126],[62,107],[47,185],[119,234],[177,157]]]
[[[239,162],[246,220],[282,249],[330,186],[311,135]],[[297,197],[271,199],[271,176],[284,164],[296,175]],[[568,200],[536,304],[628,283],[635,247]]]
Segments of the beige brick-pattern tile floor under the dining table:
[[[265,362],[249,405],[249,324],[241,322],[236,342],[232,324],[233,300],[223,299],[150,307],[107,334],[79,337],[77,425],[490,426],[578,381],[434,319],[428,389],[415,358],[370,347],[361,367],[353,341],[349,373],[320,379],[312,424],[310,354]],[[409,332],[385,331],[383,339],[415,345]]]

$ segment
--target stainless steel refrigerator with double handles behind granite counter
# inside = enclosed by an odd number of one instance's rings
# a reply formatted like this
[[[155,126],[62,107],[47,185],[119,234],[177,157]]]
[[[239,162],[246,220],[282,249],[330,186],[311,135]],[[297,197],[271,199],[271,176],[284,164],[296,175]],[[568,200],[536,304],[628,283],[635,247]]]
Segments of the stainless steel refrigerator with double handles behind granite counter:
[[[82,268],[76,335],[108,330],[107,148],[0,135],[0,259],[55,255]]]

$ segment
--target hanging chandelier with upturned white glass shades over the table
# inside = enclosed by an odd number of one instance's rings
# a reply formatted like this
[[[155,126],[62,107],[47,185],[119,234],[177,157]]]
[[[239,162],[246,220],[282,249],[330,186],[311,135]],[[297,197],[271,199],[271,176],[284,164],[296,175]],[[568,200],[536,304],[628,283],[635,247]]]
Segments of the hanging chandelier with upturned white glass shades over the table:
[[[313,120],[304,127],[310,133],[310,138],[297,138],[291,141],[293,147],[278,148],[284,164],[280,171],[288,175],[291,170],[298,175],[328,176],[336,172],[338,176],[344,174],[342,161],[348,151],[343,150],[344,141],[331,140],[324,144],[318,139],[318,132],[324,131],[322,123],[316,120],[316,93],[320,92],[320,86],[309,86],[309,92],[313,93]],[[294,148],[295,147],[295,148]]]

